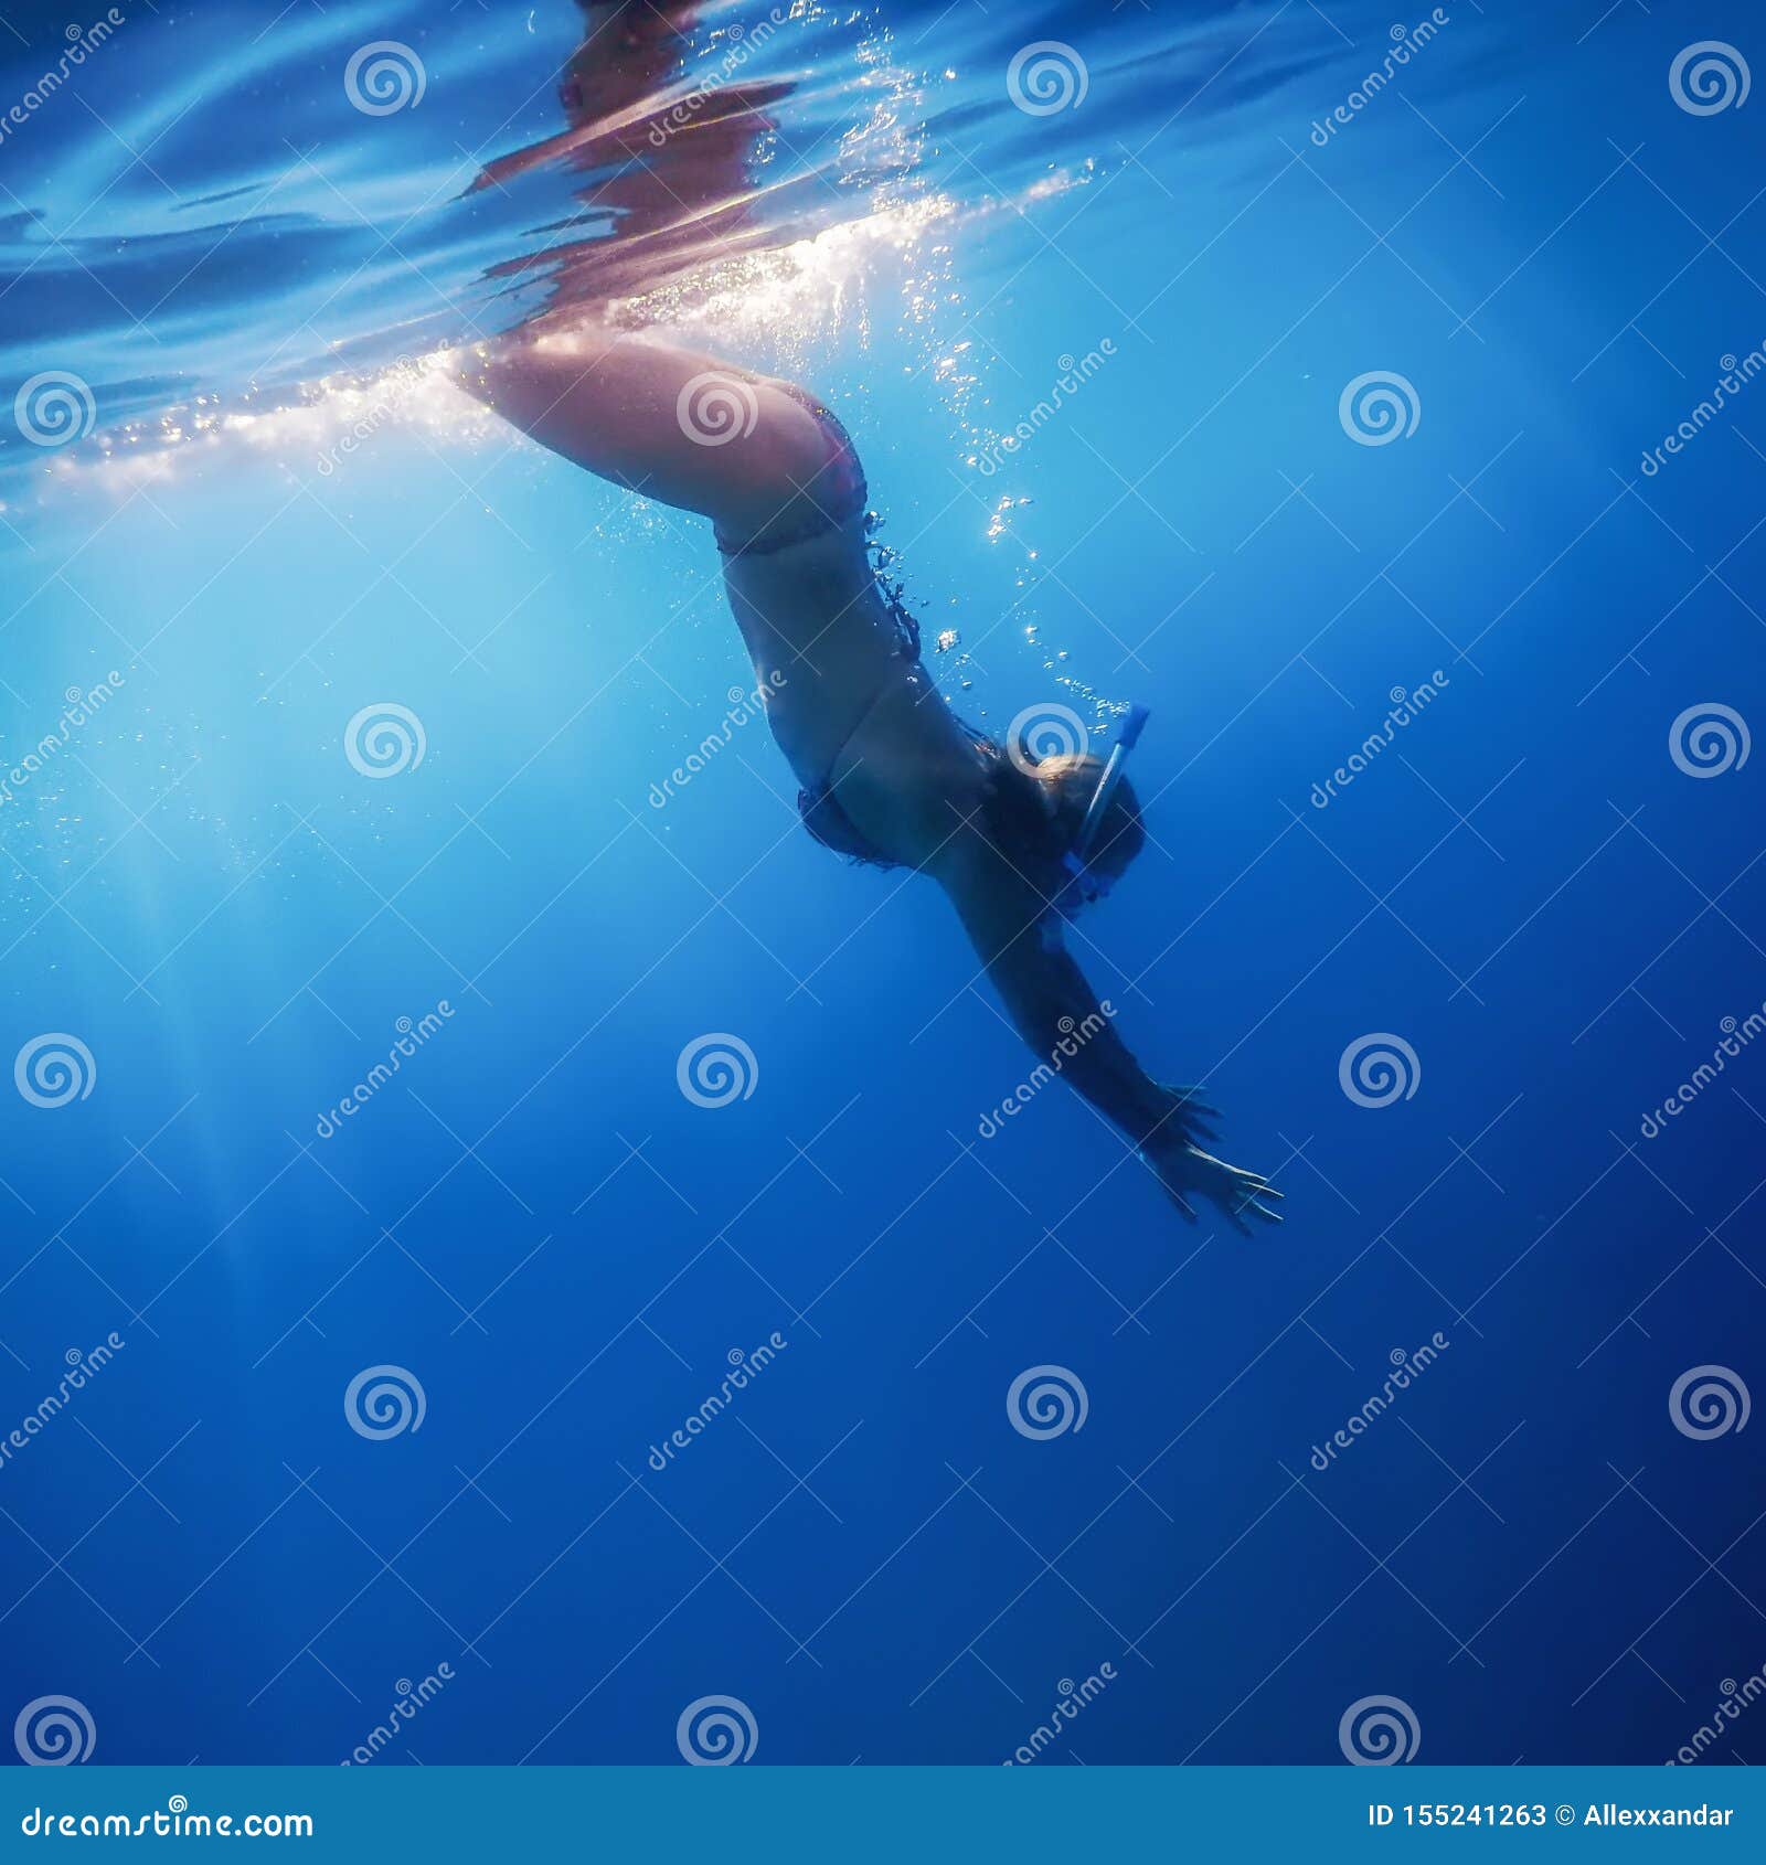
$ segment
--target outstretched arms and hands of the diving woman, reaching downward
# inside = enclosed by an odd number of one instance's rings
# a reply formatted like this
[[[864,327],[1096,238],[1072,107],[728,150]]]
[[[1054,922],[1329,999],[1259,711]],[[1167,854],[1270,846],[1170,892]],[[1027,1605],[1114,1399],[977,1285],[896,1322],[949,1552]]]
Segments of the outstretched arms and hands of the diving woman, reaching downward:
[[[1261,1173],[1240,1171],[1195,1145],[1197,1138],[1214,1138],[1205,1125],[1214,1110],[1195,1098],[1195,1089],[1164,1087],[1141,1069],[1117,1035],[1115,1009],[1098,1002],[1061,942],[1057,916],[986,836],[964,832],[951,839],[931,873],[949,893],[1031,1052],[1128,1138],[1184,1218],[1193,1223],[1192,1199],[1207,1197],[1246,1236],[1248,1216],[1279,1223],[1266,1201],[1281,1194]]]

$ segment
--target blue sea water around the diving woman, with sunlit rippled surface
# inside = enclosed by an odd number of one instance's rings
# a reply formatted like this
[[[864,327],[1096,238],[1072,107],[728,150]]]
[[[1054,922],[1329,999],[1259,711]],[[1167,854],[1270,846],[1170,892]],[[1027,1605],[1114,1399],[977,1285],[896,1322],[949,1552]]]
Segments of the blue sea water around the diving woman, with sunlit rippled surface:
[[[1029,1061],[725,731],[705,528],[375,386],[543,295],[492,269],[571,179],[461,196],[573,9],[125,9],[0,140],[0,407],[93,429],[0,421],[0,761],[54,739],[0,1050],[90,1056],[0,1097],[0,1425],[123,1343],[0,1460],[0,1716],[332,1762],[436,1678],[377,1764],[679,1764],[712,1695],[759,1762],[1000,1762],[1098,1678],[1042,1764],[1341,1764],[1367,1697],[1425,1761],[1673,1757],[1766,1660],[1766,1432],[1669,1404],[1766,1397],[1766,384],[1643,459],[1766,336],[1766,104],[1669,86],[1757,9],[1455,6],[1335,129],[1374,7],[794,11],[755,226],[821,244],[668,310],[839,408],[972,718],[1154,709],[1076,951],[1289,1222],[1186,1229],[1059,1085],[983,1138]],[[7,17],[11,99],[67,19]],[[375,39],[414,108],[352,108]],[[1009,99],[1039,39],[1076,108]],[[705,1035],[746,1098],[677,1085]],[[1367,1035],[1408,1098],[1345,1093]],[[375,1367],[418,1429],[351,1427]]]

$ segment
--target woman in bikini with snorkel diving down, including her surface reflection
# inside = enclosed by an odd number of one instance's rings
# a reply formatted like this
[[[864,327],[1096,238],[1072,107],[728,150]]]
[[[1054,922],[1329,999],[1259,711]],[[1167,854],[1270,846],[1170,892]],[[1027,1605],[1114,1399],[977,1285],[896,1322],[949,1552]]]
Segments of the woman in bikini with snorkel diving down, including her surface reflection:
[[[684,237],[703,256],[742,250],[744,155],[770,95],[699,95],[660,142],[660,97],[692,4],[584,6],[586,37],[563,82],[571,127],[494,164],[481,185],[537,160],[606,177],[584,200],[619,214],[619,239],[569,248],[548,311],[457,356],[462,384],[567,461],[711,518],[724,582],[802,785],[809,834],[882,867],[910,867],[949,895],[1020,1035],[1128,1138],[1192,1223],[1208,1199],[1249,1235],[1279,1222],[1259,1173],[1205,1153],[1216,1117],[1193,1091],[1152,1082],[1102,1015],[1063,925],[1119,880],[1145,834],[1121,763],[1033,761],[964,725],[919,656],[919,630],[869,552],[869,490],[850,436],[806,390],[612,328],[606,304],[660,282]],[[681,110],[673,112],[675,119]],[[664,144],[669,166],[653,160]],[[722,408],[709,429],[703,408]],[[716,444],[711,444],[711,442]],[[1063,1031],[1097,1029],[1078,1046]]]

